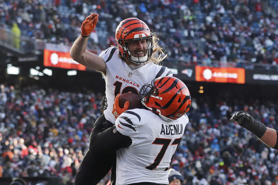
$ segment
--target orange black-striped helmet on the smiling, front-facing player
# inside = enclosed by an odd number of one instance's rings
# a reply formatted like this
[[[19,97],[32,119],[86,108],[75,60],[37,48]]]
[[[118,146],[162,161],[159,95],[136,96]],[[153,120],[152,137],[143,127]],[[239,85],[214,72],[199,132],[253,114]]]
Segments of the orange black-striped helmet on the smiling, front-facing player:
[[[132,56],[130,53],[132,50],[128,49],[126,43],[144,39],[147,41],[147,49],[141,51],[147,51],[146,55],[143,57]],[[116,29],[115,40],[122,57],[125,59],[136,64],[143,64],[151,59],[153,54],[153,35],[144,21],[134,17],[122,20]]]

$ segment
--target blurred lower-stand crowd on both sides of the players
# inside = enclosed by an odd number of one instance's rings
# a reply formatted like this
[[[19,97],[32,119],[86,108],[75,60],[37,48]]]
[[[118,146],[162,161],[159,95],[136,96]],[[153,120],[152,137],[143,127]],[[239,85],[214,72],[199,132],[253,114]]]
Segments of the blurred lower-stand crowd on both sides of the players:
[[[102,113],[101,94],[0,87],[0,177],[58,175],[61,184],[72,184],[92,124]],[[189,124],[171,164],[184,184],[278,184],[278,151],[228,121],[238,110],[278,129],[277,100],[193,98]],[[101,184],[108,181],[109,175]]]

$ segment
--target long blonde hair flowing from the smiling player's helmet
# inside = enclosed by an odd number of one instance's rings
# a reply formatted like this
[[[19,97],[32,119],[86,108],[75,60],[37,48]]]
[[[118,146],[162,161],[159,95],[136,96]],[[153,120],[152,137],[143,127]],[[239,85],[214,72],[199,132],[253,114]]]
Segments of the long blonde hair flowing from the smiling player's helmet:
[[[162,60],[164,60],[168,56],[168,54],[164,53],[164,51],[163,51],[162,47],[159,45],[158,41],[159,41],[159,38],[157,37],[156,33],[153,33],[153,54],[151,56],[151,59],[148,62],[152,62],[154,64],[160,65]],[[119,58],[124,61],[128,61],[120,53],[119,53]]]

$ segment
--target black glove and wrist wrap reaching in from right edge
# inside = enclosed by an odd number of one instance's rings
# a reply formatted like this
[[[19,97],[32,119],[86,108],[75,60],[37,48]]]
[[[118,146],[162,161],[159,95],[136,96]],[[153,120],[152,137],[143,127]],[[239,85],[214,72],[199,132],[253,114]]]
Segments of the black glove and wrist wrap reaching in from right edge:
[[[238,111],[231,117],[230,121],[235,121],[237,124],[253,134],[255,134],[258,138],[261,138],[266,132],[266,125],[261,122],[255,120],[250,114],[244,111]]]

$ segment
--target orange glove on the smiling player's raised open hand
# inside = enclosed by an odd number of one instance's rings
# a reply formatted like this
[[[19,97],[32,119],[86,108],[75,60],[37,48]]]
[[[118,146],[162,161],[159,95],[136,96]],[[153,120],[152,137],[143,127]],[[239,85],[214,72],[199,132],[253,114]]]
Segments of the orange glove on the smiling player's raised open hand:
[[[91,14],[87,16],[85,21],[83,21],[81,26],[81,35],[83,37],[88,37],[96,27],[96,22],[98,22],[98,14]]]

